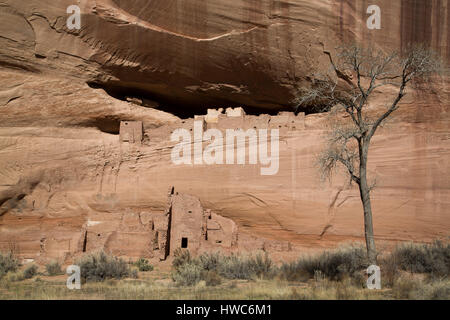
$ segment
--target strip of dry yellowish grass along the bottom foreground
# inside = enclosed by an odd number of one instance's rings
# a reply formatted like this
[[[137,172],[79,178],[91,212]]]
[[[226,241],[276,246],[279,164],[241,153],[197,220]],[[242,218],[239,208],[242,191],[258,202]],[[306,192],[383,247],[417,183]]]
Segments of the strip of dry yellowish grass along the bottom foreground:
[[[130,300],[317,300],[317,299],[389,299],[384,291],[364,290],[351,284],[325,280],[321,283],[293,284],[279,280],[226,280],[220,286],[177,286],[173,282],[146,280],[107,280],[88,282],[81,290],[67,290],[65,279],[17,281],[0,285],[4,299],[130,299]],[[349,286],[345,288],[345,286]],[[338,291],[339,290],[339,291]]]

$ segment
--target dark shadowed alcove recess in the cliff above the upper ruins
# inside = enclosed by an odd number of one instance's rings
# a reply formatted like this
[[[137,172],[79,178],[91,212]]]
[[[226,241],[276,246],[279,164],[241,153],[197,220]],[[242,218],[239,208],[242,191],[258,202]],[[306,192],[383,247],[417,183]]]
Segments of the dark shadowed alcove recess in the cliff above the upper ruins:
[[[194,118],[196,115],[206,115],[208,109],[219,108],[237,108],[242,107],[246,114],[259,116],[262,114],[268,114],[271,116],[277,115],[282,111],[295,111],[292,107],[278,107],[278,108],[261,108],[249,105],[243,105],[236,102],[231,102],[225,99],[213,99],[207,97],[199,97],[193,100],[192,97],[186,97],[186,99],[173,97],[168,98],[166,96],[150,93],[146,90],[133,88],[126,85],[88,82],[88,85],[94,89],[103,89],[109,96],[121,100],[133,103],[144,108],[154,108],[160,111],[164,111],[181,119]],[[198,102],[203,101],[203,102]],[[311,109],[312,110],[312,109]],[[312,111],[311,111],[312,113]],[[120,125],[120,122],[119,122]],[[116,133],[111,128],[116,128],[116,125],[112,123],[104,123],[103,127],[107,127],[109,133]]]

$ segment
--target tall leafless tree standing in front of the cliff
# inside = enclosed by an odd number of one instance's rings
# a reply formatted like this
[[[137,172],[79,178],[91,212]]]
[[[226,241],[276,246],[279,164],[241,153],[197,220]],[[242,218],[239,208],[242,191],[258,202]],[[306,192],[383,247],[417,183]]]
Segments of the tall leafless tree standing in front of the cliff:
[[[367,178],[370,142],[377,129],[399,108],[407,87],[430,79],[440,70],[440,62],[422,45],[410,47],[403,55],[349,45],[339,49],[336,61],[331,54],[329,57],[332,73],[316,77],[312,87],[301,92],[298,109],[320,106],[322,111],[330,111],[334,121],[328,146],[319,157],[321,172],[331,178],[337,166],[343,166],[350,183],[358,185],[367,255],[371,263],[376,263],[370,203],[373,185]],[[391,102],[381,109],[370,108],[370,98],[382,87],[395,89]]]

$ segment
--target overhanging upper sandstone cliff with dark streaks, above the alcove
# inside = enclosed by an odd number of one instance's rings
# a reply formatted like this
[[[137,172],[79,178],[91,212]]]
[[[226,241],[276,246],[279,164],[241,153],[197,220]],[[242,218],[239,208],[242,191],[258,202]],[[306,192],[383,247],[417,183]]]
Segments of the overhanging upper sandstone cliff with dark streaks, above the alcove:
[[[342,41],[386,49],[426,42],[449,61],[448,1],[12,1],[2,8],[2,64],[135,92],[178,107],[286,109]],[[366,27],[381,8],[382,29]],[[258,81],[255,81],[258,79]],[[204,108],[204,107],[203,107]]]

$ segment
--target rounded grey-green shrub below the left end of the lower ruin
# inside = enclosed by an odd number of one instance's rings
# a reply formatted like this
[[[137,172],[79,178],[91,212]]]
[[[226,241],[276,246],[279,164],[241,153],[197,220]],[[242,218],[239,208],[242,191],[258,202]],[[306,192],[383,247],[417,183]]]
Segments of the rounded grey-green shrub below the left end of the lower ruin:
[[[104,251],[87,254],[78,260],[81,279],[88,281],[104,281],[105,279],[122,279],[130,276],[128,264]]]

